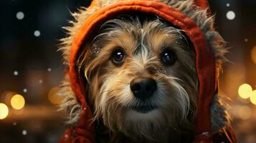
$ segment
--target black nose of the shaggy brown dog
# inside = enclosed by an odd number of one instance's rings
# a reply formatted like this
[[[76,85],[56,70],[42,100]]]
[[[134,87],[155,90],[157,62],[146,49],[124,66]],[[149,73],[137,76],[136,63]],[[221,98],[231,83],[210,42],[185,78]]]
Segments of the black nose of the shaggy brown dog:
[[[139,99],[152,97],[156,91],[156,81],[151,78],[136,78],[131,81],[131,91]]]

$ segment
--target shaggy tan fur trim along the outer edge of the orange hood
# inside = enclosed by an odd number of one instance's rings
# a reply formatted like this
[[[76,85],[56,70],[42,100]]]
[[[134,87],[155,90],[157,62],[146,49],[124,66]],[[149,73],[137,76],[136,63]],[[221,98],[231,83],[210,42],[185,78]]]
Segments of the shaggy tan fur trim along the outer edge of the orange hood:
[[[85,8],[81,7],[77,12],[72,13],[74,17],[74,21],[70,21],[71,26],[63,27],[67,31],[67,37],[61,39],[62,41],[60,51],[64,56],[64,64],[69,66],[70,62],[70,49],[72,45],[72,40],[78,29],[82,26],[85,19],[87,19],[90,14],[93,14],[95,11],[102,9],[105,6],[109,6],[110,4],[115,4],[117,0],[98,0],[99,5]],[[126,0],[130,1],[130,0]],[[141,1],[141,0],[139,0]],[[198,6],[193,4],[192,0],[159,0],[169,6],[182,11],[187,16],[191,17],[196,24],[202,29],[204,35],[207,39],[207,43],[209,47],[211,47],[214,52],[214,56],[216,59],[217,66],[221,66],[223,61],[227,61],[224,57],[224,54],[227,53],[226,42],[222,39],[222,36],[219,35],[217,31],[214,30],[214,16],[207,15],[207,9],[202,10]],[[77,102],[75,94],[72,92],[70,87],[69,80],[65,79],[62,84],[62,90],[58,93],[62,97],[64,97],[62,104],[60,104],[60,110],[64,110],[69,114],[68,124],[74,124],[79,119],[79,114],[81,111],[81,105]],[[213,131],[217,131],[222,129],[224,125],[229,122],[229,116],[226,110],[223,107],[222,100],[219,99],[218,96],[214,98],[211,107],[212,113],[212,129]],[[217,114],[218,113],[218,114]]]

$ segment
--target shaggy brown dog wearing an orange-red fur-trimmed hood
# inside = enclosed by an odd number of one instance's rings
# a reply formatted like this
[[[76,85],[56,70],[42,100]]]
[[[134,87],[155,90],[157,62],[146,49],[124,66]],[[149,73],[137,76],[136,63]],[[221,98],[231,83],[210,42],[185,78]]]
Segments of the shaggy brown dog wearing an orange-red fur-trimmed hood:
[[[216,86],[226,42],[204,2],[94,0],[72,14],[61,142],[235,142]]]

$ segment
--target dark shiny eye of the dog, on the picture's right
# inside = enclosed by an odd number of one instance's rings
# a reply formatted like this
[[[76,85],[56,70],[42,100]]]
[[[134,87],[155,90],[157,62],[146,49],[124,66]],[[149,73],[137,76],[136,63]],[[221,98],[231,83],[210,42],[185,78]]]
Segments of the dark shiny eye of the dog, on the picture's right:
[[[170,49],[166,49],[161,54],[161,61],[167,66],[171,66],[176,61],[176,54]]]

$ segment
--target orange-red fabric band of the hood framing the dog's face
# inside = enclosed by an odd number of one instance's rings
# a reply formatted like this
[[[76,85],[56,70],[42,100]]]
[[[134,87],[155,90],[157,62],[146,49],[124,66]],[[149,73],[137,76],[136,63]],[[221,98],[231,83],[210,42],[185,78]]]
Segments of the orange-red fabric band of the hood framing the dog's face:
[[[70,80],[72,90],[82,104],[83,110],[77,128],[73,131],[75,137],[72,142],[95,142],[94,126],[90,124],[93,115],[86,104],[85,85],[77,75],[76,60],[80,46],[90,36],[94,29],[97,29],[106,19],[116,15],[125,14],[130,11],[142,11],[156,14],[169,21],[171,24],[183,29],[194,44],[196,50],[196,70],[199,77],[199,96],[197,101],[198,112],[195,119],[196,133],[211,131],[209,106],[215,90],[215,62],[212,50],[207,50],[207,44],[201,29],[188,16],[156,0],[146,1],[122,1],[118,4],[107,6],[90,15],[82,24],[75,35],[70,55]],[[98,4],[93,1],[94,6]],[[196,4],[205,7],[203,1],[196,1]],[[90,9],[90,8],[89,8]],[[207,141],[208,142],[208,141]],[[210,141],[209,141],[210,142]]]

